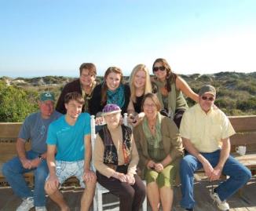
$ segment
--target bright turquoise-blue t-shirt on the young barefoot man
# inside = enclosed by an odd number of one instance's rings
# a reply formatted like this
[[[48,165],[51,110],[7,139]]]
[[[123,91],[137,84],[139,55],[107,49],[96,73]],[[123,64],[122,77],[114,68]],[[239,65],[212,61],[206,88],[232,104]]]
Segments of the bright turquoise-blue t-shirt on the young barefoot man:
[[[82,113],[74,126],[68,125],[65,116],[49,125],[46,143],[56,145],[58,161],[74,162],[84,159],[84,136],[90,135],[90,115]]]

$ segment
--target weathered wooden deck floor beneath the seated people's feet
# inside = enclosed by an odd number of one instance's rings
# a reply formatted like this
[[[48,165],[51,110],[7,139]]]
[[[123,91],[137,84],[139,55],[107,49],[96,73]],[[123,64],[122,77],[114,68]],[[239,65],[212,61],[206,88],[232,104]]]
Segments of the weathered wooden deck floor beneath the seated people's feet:
[[[196,198],[196,211],[216,211],[217,206],[214,205],[213,200],[209,196],[211,184],[208,180],[201,180],[195,183],[195,198]],[[63,189],[64,198],[67,200],[68,205],[71,207],[71,211],[79,211],[79,202],[82,195],[80,188],[65,187]],[[104,201],[115,200],[113,195],[104,195]],[[172,211],[182,211],[179,206],[181,199],[181,189],[179,187],[174,188],[174,208]],[[13,211],[20,204],[20,199],[13,195],[13,191],[9,187],[0,188],[0,210],[1,211]],[[256,211],[256,176],[242,189],[242,196],[238,193],[233,195],[228,200],[230,211]],[[47,209],[49,211],[60,210],[57,206],[47,198]],[[93,209],[91,209],[93,210]],[[118,207],[112,207],[105,210],[119,210]],[[148,206],[148,211],[150,211]],[[35,209],[31,209],[35,211]]]

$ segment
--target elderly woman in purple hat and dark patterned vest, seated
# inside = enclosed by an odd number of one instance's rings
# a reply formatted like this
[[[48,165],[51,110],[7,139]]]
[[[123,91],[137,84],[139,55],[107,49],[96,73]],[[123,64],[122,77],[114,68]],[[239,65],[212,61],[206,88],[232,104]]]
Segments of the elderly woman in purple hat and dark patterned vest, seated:
[[[97,134],[93,151],[97,181],[119,197],[119,210],[139,210],[145,187],[136,173],[139,156],[133,133],[129,127],[120,125],[119,106],[105,105],[102,115],[107,125]]]

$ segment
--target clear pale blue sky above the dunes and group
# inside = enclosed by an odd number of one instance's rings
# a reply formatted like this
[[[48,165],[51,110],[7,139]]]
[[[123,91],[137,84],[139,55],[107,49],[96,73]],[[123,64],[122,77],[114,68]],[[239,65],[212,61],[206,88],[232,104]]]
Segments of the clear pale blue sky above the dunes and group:
[[[177,74],[256,71],[254,0],[0,0],[0,76],[98,75],[163,57]]]

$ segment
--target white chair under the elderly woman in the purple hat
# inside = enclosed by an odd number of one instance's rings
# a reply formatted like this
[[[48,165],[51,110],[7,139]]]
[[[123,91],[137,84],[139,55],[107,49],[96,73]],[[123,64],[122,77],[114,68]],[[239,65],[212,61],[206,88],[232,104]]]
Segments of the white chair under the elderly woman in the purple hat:
[[[127,126],[127,114],[124,114],[123,122],[124,122],[124,125]],[[94,150],[94,144],[96,140],[94,115],[91,115],[90,125],[91,125],[91,142],[92,142],[92,148]],[[95,171],[94,166],[93,166],[93,170]],[[143,182],[145,184],[144,180]],[[103,204],[102,195],[106,193],[109,193],[108,189],[101,186],[101,184],[97,183],[95,195],[93,198],[93,211],[102,211],[104,207],[115,206],[119,204],[119,202],[109,202],[109,203]],[[147,211],[147,197],[145,197],[144,202],[142,204],[142,211]]]

